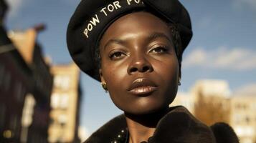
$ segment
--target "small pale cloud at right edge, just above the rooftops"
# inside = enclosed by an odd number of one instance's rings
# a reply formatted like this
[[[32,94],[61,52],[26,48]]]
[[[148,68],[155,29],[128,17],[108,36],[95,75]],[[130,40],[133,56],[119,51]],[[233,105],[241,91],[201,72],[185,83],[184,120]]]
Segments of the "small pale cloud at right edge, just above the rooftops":
[[[255,95],[256,96],[256,83],[247,84],[234,91],[235,95]]]

